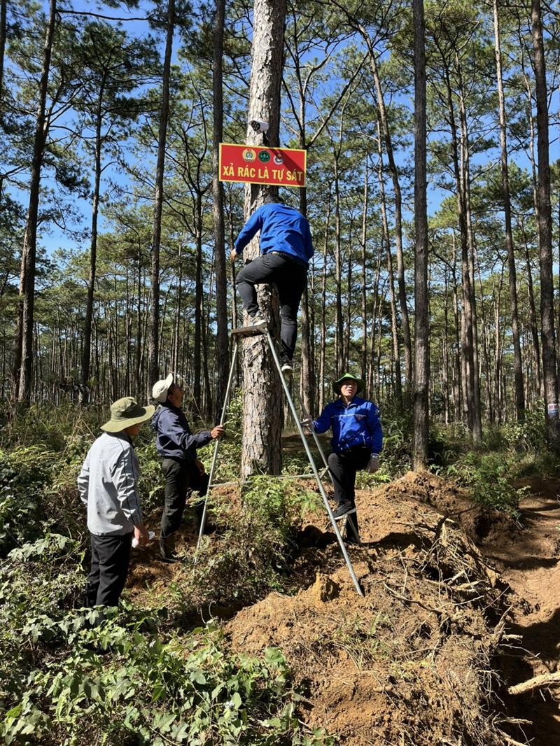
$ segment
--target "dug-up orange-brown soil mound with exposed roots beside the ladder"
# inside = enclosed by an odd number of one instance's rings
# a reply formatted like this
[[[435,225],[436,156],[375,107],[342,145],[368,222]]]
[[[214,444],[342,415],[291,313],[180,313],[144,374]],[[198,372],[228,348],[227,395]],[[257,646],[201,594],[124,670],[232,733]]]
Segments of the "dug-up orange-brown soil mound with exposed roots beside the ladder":
[[[306,527],[293,571],[311,580],[240,611],[231,645],[281,648],[305,685],[302,718],[340,743],[502,744],[491,659],[505,586],[469,538],[481,539],[483,512],[430,474],[359,492],[357,506],[364,544],[350,556],[364,598],[338,545]]]

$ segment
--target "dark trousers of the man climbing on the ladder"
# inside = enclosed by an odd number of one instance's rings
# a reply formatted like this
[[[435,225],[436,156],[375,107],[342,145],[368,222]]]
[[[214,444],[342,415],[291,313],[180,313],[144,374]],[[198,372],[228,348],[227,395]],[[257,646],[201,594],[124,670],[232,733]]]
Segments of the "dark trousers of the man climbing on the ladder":
[[[261,254],[237,274],[235,284],[249,316],[258,313],[255,285],[276,283],[280,297],[281,360],[293,358],[296,349],[297,312],[307,281],[307,265],[281,254]]]

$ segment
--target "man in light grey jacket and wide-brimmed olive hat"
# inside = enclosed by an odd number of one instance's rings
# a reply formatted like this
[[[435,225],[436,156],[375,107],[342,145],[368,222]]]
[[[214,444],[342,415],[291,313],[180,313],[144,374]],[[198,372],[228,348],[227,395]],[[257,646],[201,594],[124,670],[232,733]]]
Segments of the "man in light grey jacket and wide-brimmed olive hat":
[[[140,467],[132,439],[155,407],[140,407],[125,396],[111,404],[111,419],[87,453],[78,477],[81,501],[87,505],[91,534],[91,569],[86,606],[116,606],[125,587],[133,537],[148,542],[137,485]]]

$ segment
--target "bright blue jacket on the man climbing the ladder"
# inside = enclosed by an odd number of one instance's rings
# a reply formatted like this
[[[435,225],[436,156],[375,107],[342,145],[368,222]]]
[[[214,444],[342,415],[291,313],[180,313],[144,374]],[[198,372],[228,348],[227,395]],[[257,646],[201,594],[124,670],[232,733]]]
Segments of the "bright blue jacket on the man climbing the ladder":
[[[274,202],[263,204],[252,214],[237,236],[235,251],[241,254],[253,236],[261,231],[261,254],[281,251],[308,263],[313,256],[309,223],[299,210]]]

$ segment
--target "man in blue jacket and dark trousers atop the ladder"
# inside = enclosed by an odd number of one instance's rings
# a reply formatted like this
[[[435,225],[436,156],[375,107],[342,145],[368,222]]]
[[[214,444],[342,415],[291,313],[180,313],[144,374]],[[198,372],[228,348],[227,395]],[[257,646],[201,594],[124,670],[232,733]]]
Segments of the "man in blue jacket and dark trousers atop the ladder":
[[[287,207],[268,197],[258,207],[237,236],[230,258],[242,254],[253,236],[261,231],[261,254],[246,263],[235,283],[243,307],[251,317],[251,325],[266,329],[257,303],[255,285],[276,283],[280,297],[282,372],[292,372],[293,351],[296,348],[297,312],[307,282],[308,263],[313,256],[309,223],[299,210]]]

